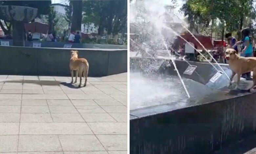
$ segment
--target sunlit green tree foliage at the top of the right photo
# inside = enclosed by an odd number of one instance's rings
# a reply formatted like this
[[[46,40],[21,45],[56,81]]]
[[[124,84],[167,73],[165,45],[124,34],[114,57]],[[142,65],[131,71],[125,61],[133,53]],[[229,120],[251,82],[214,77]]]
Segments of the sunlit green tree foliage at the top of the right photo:
[[[207,29],[213,20],[218,22],[220,31],[240,32],[255,18],[253,0],[187,0],[181,11],[187,16],[190,30],[196,32],[201,32],[195,30],[200,26],[201,30]]]

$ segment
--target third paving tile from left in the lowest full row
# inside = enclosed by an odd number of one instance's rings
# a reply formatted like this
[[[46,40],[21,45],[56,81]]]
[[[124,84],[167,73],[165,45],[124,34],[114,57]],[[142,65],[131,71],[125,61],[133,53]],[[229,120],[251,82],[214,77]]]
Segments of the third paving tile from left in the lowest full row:
[[[105,150],[95,135],[59,135],[59,139],[64,151]]]

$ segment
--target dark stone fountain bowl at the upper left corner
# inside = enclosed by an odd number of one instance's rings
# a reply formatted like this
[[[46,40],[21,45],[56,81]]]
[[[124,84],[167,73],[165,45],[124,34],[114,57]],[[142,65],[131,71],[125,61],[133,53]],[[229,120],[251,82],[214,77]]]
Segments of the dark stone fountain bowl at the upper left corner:
[[[0,6],[0,18],[8,22],[31,22],[37,14],[36,8],[4,5]]]

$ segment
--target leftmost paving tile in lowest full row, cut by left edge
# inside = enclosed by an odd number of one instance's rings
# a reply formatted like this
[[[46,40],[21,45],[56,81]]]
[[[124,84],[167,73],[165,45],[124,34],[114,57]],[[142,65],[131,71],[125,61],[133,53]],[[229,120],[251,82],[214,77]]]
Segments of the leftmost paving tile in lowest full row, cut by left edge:
[[[0,152],[16,152],[18,135],[0,136]]]

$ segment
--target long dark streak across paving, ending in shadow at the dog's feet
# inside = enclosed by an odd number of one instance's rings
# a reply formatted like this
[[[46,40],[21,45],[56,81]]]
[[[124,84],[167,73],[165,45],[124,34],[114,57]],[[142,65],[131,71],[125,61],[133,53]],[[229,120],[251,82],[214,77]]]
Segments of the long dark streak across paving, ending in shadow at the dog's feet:
[[[37,85],[44,85],[44,86],[58,86],[63,85],[69,88],[78,89],[80,87],[74,86],[70,82],[59,82],[59,81],[47,81],[47,80],[6,80],[1,81],[0,83],[27,83],[27,84],[37,84]]]

